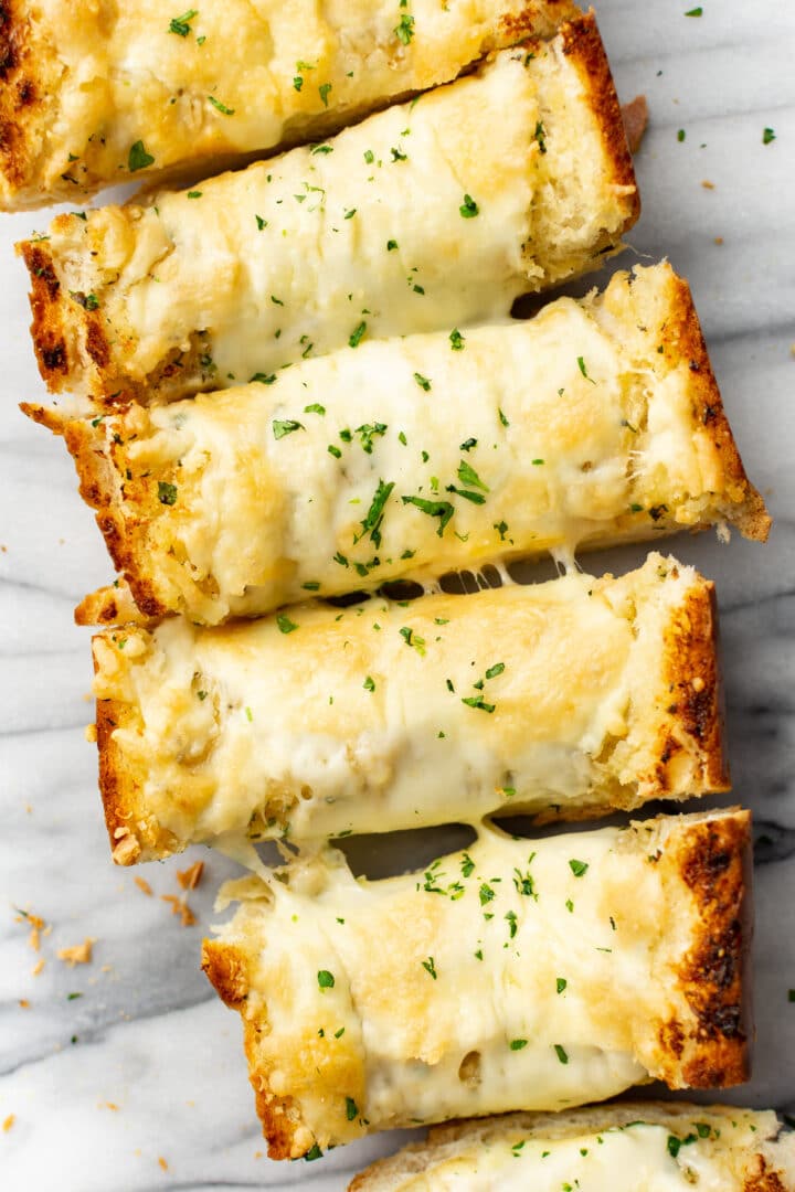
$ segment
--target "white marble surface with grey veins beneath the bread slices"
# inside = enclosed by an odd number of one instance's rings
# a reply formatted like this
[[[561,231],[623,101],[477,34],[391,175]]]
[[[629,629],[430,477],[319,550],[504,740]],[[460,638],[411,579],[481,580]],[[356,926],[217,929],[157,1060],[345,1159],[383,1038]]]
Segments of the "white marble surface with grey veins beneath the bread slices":
[[[638,160],[644,213],[623,261],[667,254],[690,278],[746,465],[776,517],[768,547],[701,538],[675,550],[718,581],[735,793],[762,834],[756,1066],[731,1099],[793,1112],[795,7],[704,0],[700,19],[689,7],[602,0],[598,15],[622,99],[645,92],[651,108]],[[768,145],[765,126],[776,132]],[[42,396],[12,252],[37,224],[0,217],[0,1123],[14,1116],[0,1131],[0,1187],[341,1190],[396,1138],[312,1165],[262,1157],[237,1017],[198,971],[212,890],[231,867],[209,856],[191,895],[199,923],[184,927],[159,896],[176,892],[184,861],[144,870],[153,898],[110,862],[95,752],[82,739],[88,640],[72,622],[108,569],[69,460],[15,409]],[[38,976],[14,907],[52,926]],[[68,969],[56,950],[87,936],[94,962]]]

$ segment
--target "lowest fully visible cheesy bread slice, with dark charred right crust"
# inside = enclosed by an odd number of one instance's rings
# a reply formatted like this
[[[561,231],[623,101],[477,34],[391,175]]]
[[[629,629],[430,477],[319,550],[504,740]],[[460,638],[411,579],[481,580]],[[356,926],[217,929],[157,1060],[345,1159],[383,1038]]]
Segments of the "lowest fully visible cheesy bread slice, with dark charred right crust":
[[[745,1080],[749,834],[738,809],[484,828],[424,873],[355,879],[327,849],[230,883],[204,969],[241,1013],[271,1156]]]

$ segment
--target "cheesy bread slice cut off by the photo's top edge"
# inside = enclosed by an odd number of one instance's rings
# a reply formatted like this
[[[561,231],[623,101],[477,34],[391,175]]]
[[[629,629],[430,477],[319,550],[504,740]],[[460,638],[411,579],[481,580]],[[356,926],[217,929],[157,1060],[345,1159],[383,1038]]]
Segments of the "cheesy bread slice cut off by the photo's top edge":
[[[10,0],[0,205],[74,203],[312,141],[578,14],[571,0]]]

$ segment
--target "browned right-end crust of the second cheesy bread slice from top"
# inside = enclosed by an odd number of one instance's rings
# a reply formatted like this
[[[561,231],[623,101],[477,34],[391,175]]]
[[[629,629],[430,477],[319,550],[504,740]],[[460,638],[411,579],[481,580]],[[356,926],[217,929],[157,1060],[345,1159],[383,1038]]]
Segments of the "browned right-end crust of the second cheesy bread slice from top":
[[[605,157],[611,164],[610,181],[627,197],[629,210],[623,225],[627,231],[640,216],[640,191],[635,182],[635,169],[610,63],[594,13],[567,21],[561,26],[560,36],[564,54],[577,67],[591,111],[602,130]]]

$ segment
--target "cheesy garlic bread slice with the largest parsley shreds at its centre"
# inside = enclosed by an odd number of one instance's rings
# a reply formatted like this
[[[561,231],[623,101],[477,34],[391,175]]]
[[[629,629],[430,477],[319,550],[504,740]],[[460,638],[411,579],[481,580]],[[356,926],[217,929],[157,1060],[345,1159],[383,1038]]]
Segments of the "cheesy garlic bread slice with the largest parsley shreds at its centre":
[[[147,616],[213,625],[484,560],[769,526],[667,265],[524,323],[362,343],[273,385],[103,420],[25,409],[66,436]],[[88,597],[79,619],[118,620],[119,596]]]

